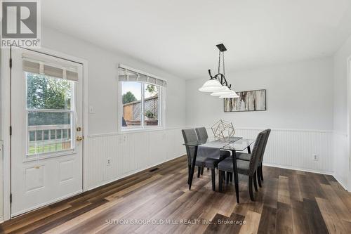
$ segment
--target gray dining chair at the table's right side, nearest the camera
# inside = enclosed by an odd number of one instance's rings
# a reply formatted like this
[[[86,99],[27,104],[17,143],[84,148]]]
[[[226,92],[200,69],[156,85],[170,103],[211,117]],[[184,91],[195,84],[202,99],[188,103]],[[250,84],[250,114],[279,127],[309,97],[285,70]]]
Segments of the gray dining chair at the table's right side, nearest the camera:
[[[256,175],[258,164],[260,163],[260,154],[263,150],[266,134],[267,131],[261,131],[260,134],[258,134],[255,141],[255,145],[253,146],[250,161],[237,160],[237,173],[249,176],[249,194],[252,201],[255,200],[252,186],[255,186],[255,190],[257,191]],[[225,171],[235,173],[233,157],[228,157],[225,160],[218,163],[218,183],[220,191],[222,190],[223,174],[225,173]]]

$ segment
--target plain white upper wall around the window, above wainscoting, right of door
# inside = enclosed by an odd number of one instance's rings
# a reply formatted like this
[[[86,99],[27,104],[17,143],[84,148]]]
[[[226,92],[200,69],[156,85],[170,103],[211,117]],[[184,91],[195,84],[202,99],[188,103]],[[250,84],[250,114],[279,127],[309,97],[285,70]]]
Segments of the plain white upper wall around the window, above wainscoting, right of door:
[[[41,46],[88,60],[88,98],[94,114],[89,115],[89,134],[117,132],[117,65],[155,74],[167,80],[167,127],[185,124],[185,80],[115,51],[99,48],[54,30],[42,29]]]

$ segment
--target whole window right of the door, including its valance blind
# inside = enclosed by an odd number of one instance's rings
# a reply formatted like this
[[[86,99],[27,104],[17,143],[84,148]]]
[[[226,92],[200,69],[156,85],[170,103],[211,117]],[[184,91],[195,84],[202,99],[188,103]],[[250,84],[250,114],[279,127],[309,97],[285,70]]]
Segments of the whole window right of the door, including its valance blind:
[[[166,82],[125,66],[119,67],[119,110],[121,131],[164,126]]]

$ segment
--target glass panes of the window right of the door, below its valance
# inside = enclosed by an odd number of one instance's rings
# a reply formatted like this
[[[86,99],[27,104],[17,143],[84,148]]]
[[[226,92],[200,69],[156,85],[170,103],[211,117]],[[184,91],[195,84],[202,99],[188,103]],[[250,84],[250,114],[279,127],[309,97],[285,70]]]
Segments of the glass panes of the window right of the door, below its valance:
[[[121,82],[124,128],[159,126],[159,86]]]

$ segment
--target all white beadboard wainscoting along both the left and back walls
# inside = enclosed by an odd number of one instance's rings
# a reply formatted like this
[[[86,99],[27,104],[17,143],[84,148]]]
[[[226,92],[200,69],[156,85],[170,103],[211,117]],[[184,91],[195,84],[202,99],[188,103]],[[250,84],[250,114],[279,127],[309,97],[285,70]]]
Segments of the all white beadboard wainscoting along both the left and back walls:
[[[84,155],[84,190],[185,155],[181,129],[88,136]],[[235,129],[236,136],[244,138],[256,138],[262,130]],[[211,135],[211,128],[207,131]],[[332,131],[272,129],[263,163],[333,174],[333,141]],[[314,155],[317,155],[317,160],[314,160]],[[107,165],[108,160],[110,165]]]

